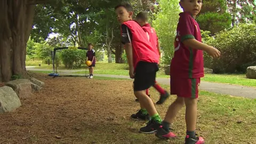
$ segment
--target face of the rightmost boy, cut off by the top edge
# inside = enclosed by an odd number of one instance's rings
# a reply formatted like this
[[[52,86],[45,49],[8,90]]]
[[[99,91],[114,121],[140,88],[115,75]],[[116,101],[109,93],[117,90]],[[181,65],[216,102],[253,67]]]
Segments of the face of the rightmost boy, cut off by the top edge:
[[[185,12],[190,12],[196,16],[201,11],[202,0],[183,0],[180,1],[180,5]]]

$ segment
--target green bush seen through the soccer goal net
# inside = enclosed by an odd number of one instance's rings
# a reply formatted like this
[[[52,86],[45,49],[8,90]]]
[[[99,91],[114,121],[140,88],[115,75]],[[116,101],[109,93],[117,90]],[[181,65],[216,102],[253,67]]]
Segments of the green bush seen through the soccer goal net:
[[[86,51],[84,50],[62,50],[60,53],[62,63],[65,68],[76,69],[81,68],[82,64],[86,61]]]

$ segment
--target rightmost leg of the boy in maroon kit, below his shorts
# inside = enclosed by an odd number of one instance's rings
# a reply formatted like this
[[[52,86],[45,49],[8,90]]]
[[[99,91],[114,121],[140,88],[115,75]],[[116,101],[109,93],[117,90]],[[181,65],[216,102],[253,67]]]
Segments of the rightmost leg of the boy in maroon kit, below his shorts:
[[[196,138],[197,98],[185,98],[187,135]]]

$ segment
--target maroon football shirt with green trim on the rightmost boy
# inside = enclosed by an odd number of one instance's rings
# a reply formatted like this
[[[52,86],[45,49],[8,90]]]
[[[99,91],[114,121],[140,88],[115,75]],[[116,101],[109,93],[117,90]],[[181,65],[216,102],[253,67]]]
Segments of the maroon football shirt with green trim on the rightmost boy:
[[[196,20],[188,12],[179,14],[177,36],[174,41],[174,57],[171,61],[170,75],[182,78],[200,78],[204,76],[203,51],[187,47],[182,42],[195,38],[202,42],[201,32]]]

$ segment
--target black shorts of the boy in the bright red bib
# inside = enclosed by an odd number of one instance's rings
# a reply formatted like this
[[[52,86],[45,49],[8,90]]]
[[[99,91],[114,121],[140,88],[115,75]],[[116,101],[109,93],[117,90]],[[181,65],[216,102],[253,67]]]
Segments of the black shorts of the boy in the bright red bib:
[[[143,91],[149,89],[155,84],[156,72],[158,71],[157,63],[153,62],[138,62],[133,82],[134,91]]]

